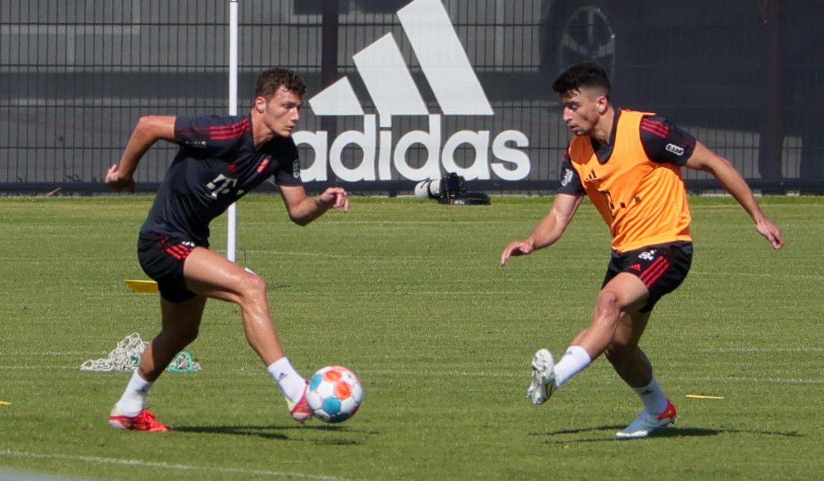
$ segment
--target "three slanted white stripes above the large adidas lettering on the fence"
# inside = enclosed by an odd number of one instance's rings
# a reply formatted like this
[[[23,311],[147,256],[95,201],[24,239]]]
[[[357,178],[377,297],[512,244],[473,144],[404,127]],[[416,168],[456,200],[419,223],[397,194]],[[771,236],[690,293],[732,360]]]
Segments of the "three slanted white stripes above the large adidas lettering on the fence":
[[[414,0],[398,11],[398,17],[443,114],[494,114],[440,0]],[[391,127],[392,115],[429,114],[391,34],[352,58],[381,127]],[[309,105],[316,115],[363,115],[347,77],[312,97]]]

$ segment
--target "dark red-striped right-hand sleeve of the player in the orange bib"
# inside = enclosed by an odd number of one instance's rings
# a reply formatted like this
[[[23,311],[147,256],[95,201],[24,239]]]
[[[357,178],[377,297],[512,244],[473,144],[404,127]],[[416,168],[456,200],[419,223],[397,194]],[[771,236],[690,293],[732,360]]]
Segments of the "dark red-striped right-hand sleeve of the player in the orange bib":
[[[695,137],[661,115],[648,115],[641,119],[640,132],[644,152],[656,162],[683,166],[695,150]]]

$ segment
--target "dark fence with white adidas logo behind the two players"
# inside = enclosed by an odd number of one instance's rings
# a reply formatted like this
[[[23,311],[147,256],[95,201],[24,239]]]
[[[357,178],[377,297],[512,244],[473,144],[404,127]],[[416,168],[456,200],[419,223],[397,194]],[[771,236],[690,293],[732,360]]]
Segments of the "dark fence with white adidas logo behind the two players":
[[[142,115],[228,111],[232,2],[0,2],[0,189],[102,192]],[[411,191],[447,172],[550,193],[569,129],[550,84],[583,60],[756,189],[824,192],[818,0],[238,0],[238,105],[265,68],[309,91],[307,185]],[[144,156],[162,180],[176,146]],[[688,171],[693,190],[717,189]]]

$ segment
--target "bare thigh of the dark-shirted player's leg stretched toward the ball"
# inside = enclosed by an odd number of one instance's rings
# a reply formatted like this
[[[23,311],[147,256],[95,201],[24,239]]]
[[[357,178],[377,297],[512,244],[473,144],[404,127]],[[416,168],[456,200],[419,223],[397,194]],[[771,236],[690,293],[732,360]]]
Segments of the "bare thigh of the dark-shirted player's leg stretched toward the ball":
[[[192,250],[183,266],[186,287],[205,297],[239,302],[250,290],[263,291],[263,279],[205,247]]]

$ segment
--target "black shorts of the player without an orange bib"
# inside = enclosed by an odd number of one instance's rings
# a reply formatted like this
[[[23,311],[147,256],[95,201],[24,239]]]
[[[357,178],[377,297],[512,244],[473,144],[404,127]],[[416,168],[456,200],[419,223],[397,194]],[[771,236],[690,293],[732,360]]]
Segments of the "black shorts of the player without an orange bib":
[[[155,281],[160,295],[170,302],[195,296],[186,288],[183,263],[196,245],[191,240],[173,239],[161,234],[138,237],[138,260],[143,272]]]

